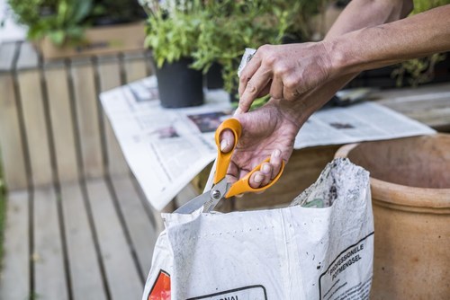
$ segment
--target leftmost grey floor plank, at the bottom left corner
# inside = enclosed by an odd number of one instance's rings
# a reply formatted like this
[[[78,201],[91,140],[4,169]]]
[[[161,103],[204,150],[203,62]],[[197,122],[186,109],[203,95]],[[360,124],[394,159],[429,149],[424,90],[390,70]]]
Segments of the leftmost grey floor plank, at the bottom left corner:
[[[0,299],[30,298],[30,244],[28,192],[7,195],[4,257],[0,271]]]

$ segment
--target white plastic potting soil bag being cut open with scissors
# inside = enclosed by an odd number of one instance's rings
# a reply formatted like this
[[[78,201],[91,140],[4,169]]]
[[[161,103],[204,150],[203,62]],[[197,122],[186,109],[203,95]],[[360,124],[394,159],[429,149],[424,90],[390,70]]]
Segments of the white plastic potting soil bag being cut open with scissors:
[[[368,299],[369,175],[336,159],[291,207],[164,214],[143,299]]]

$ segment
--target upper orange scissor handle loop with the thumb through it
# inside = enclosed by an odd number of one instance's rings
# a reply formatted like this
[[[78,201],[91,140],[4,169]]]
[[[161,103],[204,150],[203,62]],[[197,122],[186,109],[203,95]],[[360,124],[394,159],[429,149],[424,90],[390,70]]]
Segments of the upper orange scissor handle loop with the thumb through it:
[[[234,135],[234,145],[229,152],[222,153],[220,151],[220,134],[227,129],[231,130],[231,132]],[[217,184],[217,182],[224,179],[225,175],[227,175],[229,162],[231,161],[231,156],[233,155],[234,149],[238,145],[238,139],[240,137],[241,132],[242,127],[240,126],[238,119],[233,118],[224,120],[220,124],[219,128],[217,128],[215,134],[215,140],[217,145],[217,163],[216,163],[216,172],[214,174],[214,184]]]

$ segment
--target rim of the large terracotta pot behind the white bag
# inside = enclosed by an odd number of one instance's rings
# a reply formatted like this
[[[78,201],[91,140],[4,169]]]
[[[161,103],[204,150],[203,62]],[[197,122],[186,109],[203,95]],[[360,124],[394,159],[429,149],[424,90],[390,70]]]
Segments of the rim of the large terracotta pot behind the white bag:
[[[361,143],[339,147],[335,158],[348,154]],[[450,208],[450,189],[418,188],[370,177],[373,199],[405,207]]]

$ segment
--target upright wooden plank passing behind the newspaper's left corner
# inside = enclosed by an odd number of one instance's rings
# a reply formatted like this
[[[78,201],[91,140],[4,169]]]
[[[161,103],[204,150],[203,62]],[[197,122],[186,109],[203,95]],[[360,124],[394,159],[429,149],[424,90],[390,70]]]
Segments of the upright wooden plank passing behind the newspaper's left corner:
[[[119,60],[110,59],[100,61],[98,65],[98,74],[100,76],[101,92],[111,90],[121,85],[121,69]],[[130,172],[125,157],[121,151],[121,146],[114,135],[111,123],[103,113],[104,133],[106,138],[106,154],[108,155],[108,171],[111,175],[125,175]]]

